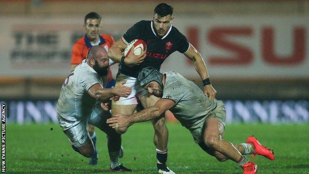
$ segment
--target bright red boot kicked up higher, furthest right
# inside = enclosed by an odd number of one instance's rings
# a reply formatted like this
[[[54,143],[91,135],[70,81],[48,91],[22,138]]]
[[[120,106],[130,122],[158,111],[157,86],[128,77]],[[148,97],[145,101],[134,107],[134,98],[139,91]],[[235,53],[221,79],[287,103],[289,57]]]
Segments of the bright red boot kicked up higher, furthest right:
[[[254,136],[248,137],[246,143],[251,144],[255,150],[254,153],[250,154],[253,155],[253,158],[255,158],[256,155],[262,155],[269,160],[275,159],[273,151],[261,145]]]

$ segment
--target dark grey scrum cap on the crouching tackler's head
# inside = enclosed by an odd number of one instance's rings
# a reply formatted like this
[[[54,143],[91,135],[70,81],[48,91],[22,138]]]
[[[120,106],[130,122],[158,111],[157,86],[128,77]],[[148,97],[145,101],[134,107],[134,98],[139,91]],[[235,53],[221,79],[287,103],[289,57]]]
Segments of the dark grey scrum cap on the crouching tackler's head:
[[[137,80],[141,87],[146,86],[148,83],[155,81],[163,88],[162,74],[153,67],[145,67],[137,76]]]

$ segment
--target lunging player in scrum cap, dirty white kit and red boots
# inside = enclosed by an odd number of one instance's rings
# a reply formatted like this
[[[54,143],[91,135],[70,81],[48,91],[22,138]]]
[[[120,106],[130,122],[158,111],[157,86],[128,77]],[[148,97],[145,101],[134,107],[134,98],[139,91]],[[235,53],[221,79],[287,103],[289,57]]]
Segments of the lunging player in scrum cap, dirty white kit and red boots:
[[[262,155],[270,160],[275,156],[263,147],[254,136],[246,143],[232,144],[223,140],[225,127],[224,104],[216,99],[209,100],[192,81],[177,72],[161,74],[153,67],[146,67],[139,73],[139,85],[160,99],[153,107],[148,107],[130,116],[116,115],[107,119],[113,128],[128,128],[135,122],[147,121],[170,110],[180,123],[190,130],[194,141],[218,161],[228,159],[236,162],[244,170],[243,174],[256,174],[257,165],[244,155]]]

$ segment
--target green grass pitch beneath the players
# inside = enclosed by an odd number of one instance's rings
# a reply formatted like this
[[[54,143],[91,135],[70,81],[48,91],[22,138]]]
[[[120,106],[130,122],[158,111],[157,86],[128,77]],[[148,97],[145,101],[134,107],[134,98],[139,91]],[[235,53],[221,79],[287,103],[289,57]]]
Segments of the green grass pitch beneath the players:
[[[169,123],[167,126],[167,164],[176,174],[242,173],[234,162],[218,162],[204,153],[180,124]],[[132,168],[135,174],[156,174],[153,132],[151,123],[136,123],[123,135],[125,154],[120,163]],[[232,124],[225,129],[227,141],[242,143],[249,135],[255,135],[263,145],[274,149],[274,161],[260,156],[254,160],[259,174],[309,174],[308,134],[309,124]],[[71,149],[57,124],[8,124],[6,171],[11,174],[108,173],[106,137],[99,129],[97,136],[100,161],[94,167],[88,166],[88,159]]]

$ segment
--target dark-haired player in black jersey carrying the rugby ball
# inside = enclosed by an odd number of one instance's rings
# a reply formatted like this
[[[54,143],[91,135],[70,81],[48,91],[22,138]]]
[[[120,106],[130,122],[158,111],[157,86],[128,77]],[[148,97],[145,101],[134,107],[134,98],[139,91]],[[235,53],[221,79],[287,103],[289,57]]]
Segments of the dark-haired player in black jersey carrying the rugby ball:
[[[154,106],[159,98],[148,93],[137,84],[137,75],[144,68],[152,66],[159,70],[163,61],[173,52],[178,51],[190,58],[201,76],[204,84],[204,94],[210,100],[215,98],[216,90],[211,86],[205,62],[201,54],[181,34],[173,22],[173,7],[160,3],[154,8],[154,18],[151,21],[142,20],[134,24],[108,51],[113,61],[120,63],[116,86],[119,81],[126,79],[125,86],[132,87],[129,97],[114,97],[112,100],[112,115],[131,115],[135,111],[138,100],[144,108]],[[147,50],[139,55],[130,52],[123,57],[123,50],[134,39],[146,42]],[[174,174],[166,166],[168,130],[164,123],[164,115],[152,120],[154,126],[154,145],[156,146],[157,170],[159,174]],[[118,133],[126,132],[127,127],[117,128]]]

